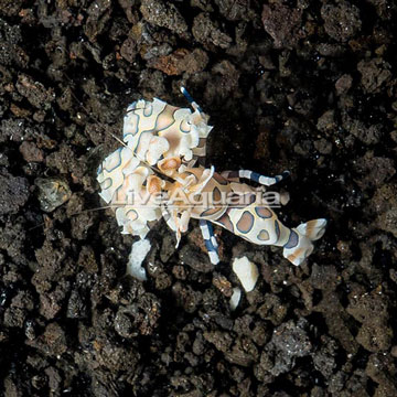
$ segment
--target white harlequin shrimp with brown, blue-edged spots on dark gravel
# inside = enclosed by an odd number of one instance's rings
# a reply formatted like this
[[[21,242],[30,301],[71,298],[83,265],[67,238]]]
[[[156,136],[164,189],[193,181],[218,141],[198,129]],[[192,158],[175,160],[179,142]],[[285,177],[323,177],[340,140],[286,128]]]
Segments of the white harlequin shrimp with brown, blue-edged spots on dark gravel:
[[[214,167],[202,165],[213,127],[189,93],[181,90],[194,111],[157,98],[131,104],[124,120],[124,147],[98,169],[99,195],[115,208],[121,233],[144,238],[153,223],[164,217],[176,234],[178,247],[190,218],[195,218],[214,265],[219,258],[212,224],[254,244],[282,247],[283,256],[300,265],[312,253],[313,242],[324,234],[326,221],[289,228],[261,201],[262,187],[278,183],[289,172],[276,176],[248,170],[217,173]]]

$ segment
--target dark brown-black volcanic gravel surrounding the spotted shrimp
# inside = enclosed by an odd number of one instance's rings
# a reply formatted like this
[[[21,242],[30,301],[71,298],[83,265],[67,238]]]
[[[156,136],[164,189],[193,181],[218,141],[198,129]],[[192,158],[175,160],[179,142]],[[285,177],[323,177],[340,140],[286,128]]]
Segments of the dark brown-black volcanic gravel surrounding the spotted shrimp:
[[[0,395],[397,396],[393,0],[0,0]],[[196,222],[180,249],[100,205],[126,106],[211,115],[207,164],[275,174],[280,217],[330,225],[308,264]],[[51,197],[43,195],[51,193]],[[64,203],[64,204],[62,204]],[[62,205],[60,205],[62,204]],[[230,312],[232,259],[260,268]]]

